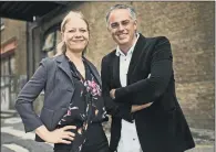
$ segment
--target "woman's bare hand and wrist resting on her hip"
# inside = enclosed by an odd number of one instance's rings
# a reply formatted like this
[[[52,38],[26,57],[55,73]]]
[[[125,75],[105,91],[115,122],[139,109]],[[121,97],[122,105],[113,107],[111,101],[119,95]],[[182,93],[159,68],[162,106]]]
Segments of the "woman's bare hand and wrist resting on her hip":
[[[60,129],[55,129],[53,131],[49,131],[45,126],[41,126],[35,129],[35,133],[49,143],[65,143],[70,144],[71,141],[74,140],[75,134],[71,131],[71,129],[76,129],[75,126],[65,126]],[[70,141],[69,141],[70,140]]]

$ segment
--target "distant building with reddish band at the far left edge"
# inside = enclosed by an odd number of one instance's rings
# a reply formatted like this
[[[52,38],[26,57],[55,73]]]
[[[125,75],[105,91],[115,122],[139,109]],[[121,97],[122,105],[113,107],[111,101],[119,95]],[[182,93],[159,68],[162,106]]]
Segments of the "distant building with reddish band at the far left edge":
[[[25,22],[1,20],[1,110],[14,109],[18,91],[27,79]]]

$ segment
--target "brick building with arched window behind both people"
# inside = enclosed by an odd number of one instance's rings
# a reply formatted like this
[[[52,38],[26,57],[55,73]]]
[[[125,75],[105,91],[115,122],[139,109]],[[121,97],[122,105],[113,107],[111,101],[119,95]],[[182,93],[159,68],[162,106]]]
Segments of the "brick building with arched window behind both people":
[[[29,22],[27,75],[32,76],[39,62],[56,53],[61,41],[60,23],[70,11],[81,11],[90,24],[86,56],[97,69],[102,57],[115,48],[105,24],[110,7],[120,2],[68,3]],[[176,93],[191,127],[214,129],[215,113],[215,2],[121,2],[137,12],[138,31],[144,36],[165,35],[173,51]],[[41,104],[39,104],[39,107]]]

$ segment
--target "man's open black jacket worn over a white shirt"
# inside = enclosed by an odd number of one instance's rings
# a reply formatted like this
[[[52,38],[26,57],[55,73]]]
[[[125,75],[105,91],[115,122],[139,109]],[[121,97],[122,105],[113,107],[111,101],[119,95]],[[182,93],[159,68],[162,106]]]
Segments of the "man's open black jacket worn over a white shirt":
[[[144,37],[140,34],[126,87],[120,84],[120,57],[115,51],[103,57],[101,76],[106,110],[112,115],[111,150],[116,150],[120,141],[121,119],[132,119],[131,106],[152,101],[151,107],[133,115],[143,151],[182,152],[195,146],[176,99],[173,55],[166,37]],[[117,88],[115,100],[109,96],[113,88]]]

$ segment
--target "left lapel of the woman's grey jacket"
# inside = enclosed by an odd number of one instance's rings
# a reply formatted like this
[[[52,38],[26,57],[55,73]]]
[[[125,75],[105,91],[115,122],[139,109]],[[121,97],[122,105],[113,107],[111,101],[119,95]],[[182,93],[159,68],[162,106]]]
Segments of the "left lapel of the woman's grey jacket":
[[[56,62],[58,62],[58,66],[60,67],[60,69],[62,69],[69,76],[71,82],[73,83],[71,69],[70,69],[69,63],[66,61],[66,57],[62,54],[62,55],[56,57]]]

